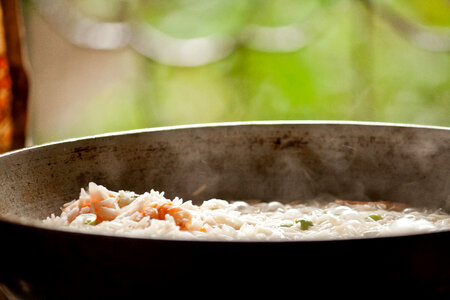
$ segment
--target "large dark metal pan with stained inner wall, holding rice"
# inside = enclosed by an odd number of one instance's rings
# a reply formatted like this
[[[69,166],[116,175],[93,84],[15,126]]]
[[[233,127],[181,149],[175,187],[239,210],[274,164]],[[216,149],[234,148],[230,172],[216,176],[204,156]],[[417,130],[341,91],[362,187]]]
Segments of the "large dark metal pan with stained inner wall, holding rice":
[[[299,242],[130,238],[48,229],[89,181],[227,200],[386,200],[450,211],[450,130],[357,122],[249,122],[115,133],[0,156],[0,281],[22,298],[170,291],[437,295],[450,232]],[[366,294],[364,294],[366,293]],[[306,294],[305,294],[306,295]],[[344,294],[342,294],[344,295]],[[84,297],[84,298],[80,298]]]

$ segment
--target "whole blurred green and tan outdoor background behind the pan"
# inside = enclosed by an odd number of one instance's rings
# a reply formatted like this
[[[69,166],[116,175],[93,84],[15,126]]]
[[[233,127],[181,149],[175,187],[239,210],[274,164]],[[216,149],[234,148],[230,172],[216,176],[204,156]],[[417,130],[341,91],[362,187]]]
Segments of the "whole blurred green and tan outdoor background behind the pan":
[[[29,144],[246,120],[450,126],[449,0],[22,0]]]

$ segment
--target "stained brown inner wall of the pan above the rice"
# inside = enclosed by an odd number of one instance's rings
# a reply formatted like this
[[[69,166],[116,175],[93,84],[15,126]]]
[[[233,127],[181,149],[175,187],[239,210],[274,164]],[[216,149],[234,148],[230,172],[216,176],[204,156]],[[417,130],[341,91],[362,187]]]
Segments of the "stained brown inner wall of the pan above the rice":
[[[148,130],[0,157],[0,214],[59,213],[90,181],[210,198],[337,197],[450,210],[449,131],[361,124],[245,124]]]

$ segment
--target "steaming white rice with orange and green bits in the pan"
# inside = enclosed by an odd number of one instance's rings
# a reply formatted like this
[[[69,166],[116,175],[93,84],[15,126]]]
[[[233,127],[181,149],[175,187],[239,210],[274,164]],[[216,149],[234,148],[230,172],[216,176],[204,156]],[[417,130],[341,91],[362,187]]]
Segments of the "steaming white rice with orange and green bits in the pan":
[[[179,214],[167,213],[158,219],[142,213],[145,207],[160,207],[162,203],[170,203],[189,220],[180,219]],[[166,199],[164,193],[154,190],[137,195],[90,183],[88,191],[81,190],[79,199],[64,205],[60,216],[52,214],[43,222],[83,232],[210,240],[346,239],[450,229],[450,215],[442,210],[394,208],[383,202],[249,204],[220,199],[194,205],[180,198]],[[187,225],[183,228],[180,222]]]

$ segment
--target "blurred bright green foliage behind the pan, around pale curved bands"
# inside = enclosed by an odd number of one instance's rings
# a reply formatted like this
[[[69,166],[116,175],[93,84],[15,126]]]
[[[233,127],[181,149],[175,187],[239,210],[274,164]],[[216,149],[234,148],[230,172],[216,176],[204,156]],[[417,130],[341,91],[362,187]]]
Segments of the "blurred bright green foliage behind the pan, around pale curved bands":
[[[445,0],[388,3],[427,26],[449,26]],[[89,3],[92,3],[89,1]],[[200,4],[202,3],[202,4]],[[325,24],[305,47],[239,47],[205,66],[130,57],[137,74],[102,91],[71,136],[243,120],[361,120],[450,125],[450,56],[411,44],[363,1],[135,1],[137,18],[178,37],[233,33],[245,24]],[[91,4],[89,4],[91,5]],[[448,29],[448,28],[447,28]],[[102,118],[96,118],[98,111]]]

